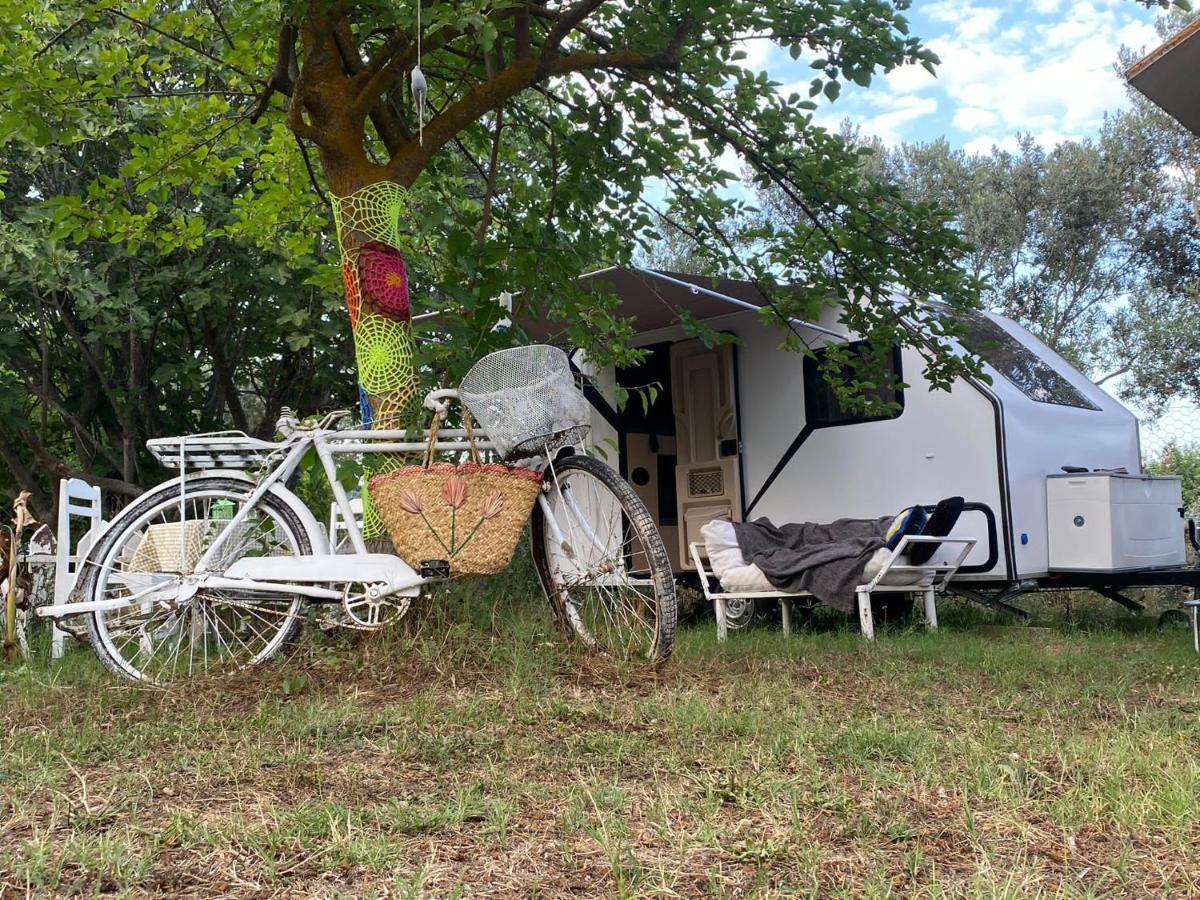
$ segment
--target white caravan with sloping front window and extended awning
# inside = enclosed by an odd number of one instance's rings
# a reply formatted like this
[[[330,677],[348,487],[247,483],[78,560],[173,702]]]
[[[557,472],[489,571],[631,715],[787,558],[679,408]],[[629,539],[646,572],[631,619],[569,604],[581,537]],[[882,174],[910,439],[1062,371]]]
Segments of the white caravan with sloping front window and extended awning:
[[[1001,316],[965,319],[990,384],[931,390],[919,354],[896,348],[892,365],[910,385],[894,396],[900,410],[868,419],[840,409],[812,359],[780,349],[749,282],[632,268],[584,282],[611,286],[617,314],[636,318],[635,346],[649,350],[635,368],[586,372],[590,442],[650,509],[677,572],[694,571],[688,544],[715,516],[832,521],[958,494],[967,508],[955,535],[978,544],[955,581],[1032,582],[1049,575],[1046,476],[1063,466],[1140,472],[1134,415]],[[689,340],[679,310],[738,341]],[[522,324],[541,340],[559,331]],[[833,308],[796,324],[812,347],[851,340]],[[661,390],[648,412],[634,398],[617,409],[617,385],[649,384]]]

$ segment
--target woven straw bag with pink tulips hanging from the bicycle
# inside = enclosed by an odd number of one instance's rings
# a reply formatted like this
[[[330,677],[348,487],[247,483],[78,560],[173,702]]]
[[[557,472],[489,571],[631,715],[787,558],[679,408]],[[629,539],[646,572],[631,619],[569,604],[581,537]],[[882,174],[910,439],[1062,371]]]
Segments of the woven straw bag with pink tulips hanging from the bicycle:
[[[496,575],[508,566],[541,490],[541,473],[484,463],[467,415],[472,462],[433,462],[436,415],[421,466],[376,475],[371,502],[396,553],[414,569],[450,564],[451,577]]]

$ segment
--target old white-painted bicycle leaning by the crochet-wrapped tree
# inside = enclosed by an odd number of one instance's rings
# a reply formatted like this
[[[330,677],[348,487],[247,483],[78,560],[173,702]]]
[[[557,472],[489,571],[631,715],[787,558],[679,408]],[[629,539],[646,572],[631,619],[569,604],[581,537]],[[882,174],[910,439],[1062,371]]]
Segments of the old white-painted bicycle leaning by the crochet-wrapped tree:
[[[426,406],[440,420],[457,396],[431,391]],[[148,442],[180,475],[122,510],[83,560],[71,602],[40,613],[85,616],[100,660],[149,685],[264,662],[296,636],[310,605],[350,628],[396,620],[444,572],[368,552],[337,458],[416,454],[426,442],[403,431],[335,430],[347,415],[305,426],[286,413],[277,443],[241,432]],[[480,437],[480,450],[493,449]],[[469,448],[464,431],[446,428],[434,446]],[[341,552],[288,487],[310,451],[346,529]],[[674,640],[674,580],[648,510],[610,467],[569,448],[542,469],[532,545],[557,625],[594,652],[664,662]]]

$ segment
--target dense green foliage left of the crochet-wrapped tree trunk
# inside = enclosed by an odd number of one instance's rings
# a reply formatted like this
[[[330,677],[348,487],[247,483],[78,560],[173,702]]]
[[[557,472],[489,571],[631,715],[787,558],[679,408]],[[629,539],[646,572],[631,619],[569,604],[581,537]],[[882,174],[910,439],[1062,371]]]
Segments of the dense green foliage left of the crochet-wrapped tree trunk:
[[[236,70],[269,50],[257,7],[232,46],[199,8],[121,7],[149,28],[100,5],[10,7],[0,391],[19,401],[0,443],[28,466],[12,474],[47,493],[58,461],[156,481],[148,437],[350,404],[326,206],[286,126],[245,118],[254,84]]]

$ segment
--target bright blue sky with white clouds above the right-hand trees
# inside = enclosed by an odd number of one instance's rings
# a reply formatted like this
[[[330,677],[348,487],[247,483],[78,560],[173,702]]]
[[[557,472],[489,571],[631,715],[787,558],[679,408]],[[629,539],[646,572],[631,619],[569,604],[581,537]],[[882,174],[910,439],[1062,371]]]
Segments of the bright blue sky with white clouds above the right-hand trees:
[[[944,136],[986,152],[1031,133],[1052,146],[1094,136],[1105,112],[1127,104],[1114,70],[1122,46],[1159,43],[1157,10],[1134,0],[913,0],[906,16],[911,34],[941,58],[937,77],[905,66],[869,89],[846,85],[821,107],[820,124],[851,119],[889,144]],[[757,43],[749,62],[806,95],[812,72],[803,59]]]

